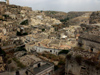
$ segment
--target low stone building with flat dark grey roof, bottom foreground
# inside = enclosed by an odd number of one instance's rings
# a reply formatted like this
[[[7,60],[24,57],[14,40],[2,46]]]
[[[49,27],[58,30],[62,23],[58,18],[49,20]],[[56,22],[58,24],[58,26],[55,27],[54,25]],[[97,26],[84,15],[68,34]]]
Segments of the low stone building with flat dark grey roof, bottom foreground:
[[[54,65],[53,63],[40,61],[33,65],[33,67],[28,69],[29,75],[53,75]]]

